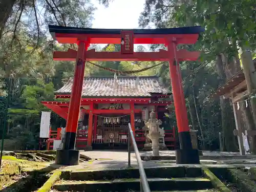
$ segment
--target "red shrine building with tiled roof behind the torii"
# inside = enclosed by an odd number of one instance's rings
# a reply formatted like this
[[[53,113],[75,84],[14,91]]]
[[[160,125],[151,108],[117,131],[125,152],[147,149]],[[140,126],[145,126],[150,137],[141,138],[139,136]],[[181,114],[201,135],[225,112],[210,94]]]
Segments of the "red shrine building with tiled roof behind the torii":
[[[55,92],[56,98],[70,99],[73,79]],[[128,123],[139,148],[145,143],[144,120],[151,111],[163,121],[162,141],[176,146],[175,129],[166,122],[166,106],[173,104],[171,93],[156,76],[86,77],[83,81],[76,145],[81,149],[126,149]],[[44,101],[47,108],[67,120],[69,101]],[[56,149],[61,128],[50,130],[48,150]],[[56,143],[56,144],[55,144]],[[56,146],[54,146],[56,145]]]

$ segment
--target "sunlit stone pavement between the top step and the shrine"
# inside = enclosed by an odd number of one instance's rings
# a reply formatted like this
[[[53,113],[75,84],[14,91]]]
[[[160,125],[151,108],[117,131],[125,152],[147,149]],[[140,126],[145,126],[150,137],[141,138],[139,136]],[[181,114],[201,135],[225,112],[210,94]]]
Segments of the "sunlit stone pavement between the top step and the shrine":
[[[95,170],[95,169],[120,169],[127,168],[128,153],[125,151],[88,151],[80,152],[92,158],[91,161],[80,163],[77,166],[63,167],[66,170]],[[151,152],[141,152],[141,155],[151,155]],[[175,156],[175,151],[161,151],[162,156]],[[201,160],[200,165],[184,165],[184,166],[199,166],[199,167],[254,167],[256,166],[256,158],[254,159],[236,159],[240,156],[239,153],[227,153],[227,152],[203,152],[204,156],[231,156],[233,159],[217,159],[217,160]],[[256,157],[256,156],[255,156]],[[240,157],[241,158],[241,157]],[[135,153],[131,153],[131,165],[137,166],[137,160]],[[166,166],[179,166],[175,160],[165,161],[143,161],[144,167],[166,167]]]

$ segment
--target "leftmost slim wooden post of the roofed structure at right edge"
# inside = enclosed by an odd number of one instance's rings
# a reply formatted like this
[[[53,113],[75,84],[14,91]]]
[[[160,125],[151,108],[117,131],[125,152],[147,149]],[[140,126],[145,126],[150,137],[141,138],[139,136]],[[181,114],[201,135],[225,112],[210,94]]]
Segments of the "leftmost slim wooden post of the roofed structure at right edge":
[[[240,155],[245,155],[241,119],[237,118],[237,106],[233,102],[233,97],[231,97],[231,99],[232,99],[233,112],[234,112],[234,121],[236,122],[236,129],[238,131],[239,152],[240,152]]]

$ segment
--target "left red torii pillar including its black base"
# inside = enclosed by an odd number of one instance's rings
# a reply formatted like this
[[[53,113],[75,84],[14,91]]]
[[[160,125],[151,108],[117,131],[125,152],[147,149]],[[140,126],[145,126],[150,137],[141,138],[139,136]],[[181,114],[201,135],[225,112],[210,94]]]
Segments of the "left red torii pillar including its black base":
[[[63,150],[57,150],[55,160],[56,164],[62,165],[79,164],[79,151],[74,150],[74,148],[81,104],[84,67],[86,58],[85,53],[89,46],[89,42],[83,39],[78,40],[77,44],[78,50],[76,56],[73,86],[71,91],[69,112],[67,118],[65,142],[63,144]]]

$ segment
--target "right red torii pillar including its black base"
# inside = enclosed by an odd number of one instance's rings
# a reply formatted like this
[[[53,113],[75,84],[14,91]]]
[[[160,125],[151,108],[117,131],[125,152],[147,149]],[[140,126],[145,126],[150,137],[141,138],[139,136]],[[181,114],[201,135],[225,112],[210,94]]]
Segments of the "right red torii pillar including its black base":
[[[198,150],[193,150],[191,143],[187,109],[182,87],[182,77],[179,61],[176,57],[177,47],[175,41],[168,41],[167,48],[170,55],[169,73],[172,81],[172,91],[180,143],[180,149],[176,151],[176,163],[199,164],[200,160]]]

